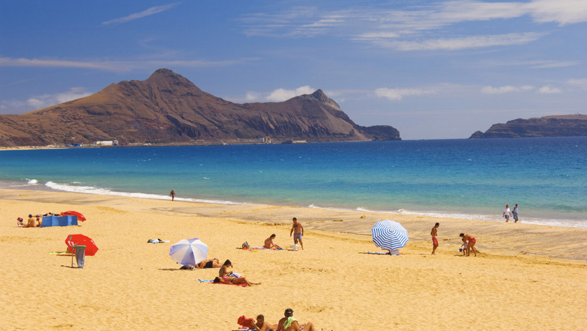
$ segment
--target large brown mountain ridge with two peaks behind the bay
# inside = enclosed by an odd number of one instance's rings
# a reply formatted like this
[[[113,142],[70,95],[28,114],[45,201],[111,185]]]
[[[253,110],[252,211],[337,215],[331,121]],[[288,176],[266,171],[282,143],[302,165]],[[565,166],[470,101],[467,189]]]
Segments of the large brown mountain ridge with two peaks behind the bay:
[[[356,125],[322,90],[284,102],[233,103],[158,69],[146,81],[112,83],[85,98],[0,115],[0,145],[399,140],[392,126]]]

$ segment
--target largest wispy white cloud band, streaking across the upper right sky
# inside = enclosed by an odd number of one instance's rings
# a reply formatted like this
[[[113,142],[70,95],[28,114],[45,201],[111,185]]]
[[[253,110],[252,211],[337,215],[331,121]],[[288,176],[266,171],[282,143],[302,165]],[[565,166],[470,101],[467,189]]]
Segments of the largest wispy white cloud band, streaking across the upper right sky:
[[[497,21],[529,16],[536,24],[559,25],[587,22],[585,0],[522,1],[437,1],[431,4],[354,6],[338,11],[321,12],[315,7],[295,7],[277,14],[248,15],[245,34],[274,37],[305,37],[332,34],[377,46],[414,50],[457,50],[492,46],[522,45],[545,33],[527,32],[503,35],[471,35],[460,32],[455,38],[433,38],[435,32],[463,22]],[[508,25],[505,25],[508,26]],[[463,31],[458,29],[458,31]],[[473,32],[474,34],[475,32]],[[390,40],[397,39],[397,40]],[[543,63],[538,68],[576,65],[576,62]]]

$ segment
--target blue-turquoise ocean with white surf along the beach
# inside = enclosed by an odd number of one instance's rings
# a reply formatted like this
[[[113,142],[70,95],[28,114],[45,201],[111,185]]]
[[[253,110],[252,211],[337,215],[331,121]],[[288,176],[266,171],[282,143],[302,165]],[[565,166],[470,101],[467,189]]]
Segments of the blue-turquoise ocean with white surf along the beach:
[[[0,187],[587,228],[587,137],[8,150]]]

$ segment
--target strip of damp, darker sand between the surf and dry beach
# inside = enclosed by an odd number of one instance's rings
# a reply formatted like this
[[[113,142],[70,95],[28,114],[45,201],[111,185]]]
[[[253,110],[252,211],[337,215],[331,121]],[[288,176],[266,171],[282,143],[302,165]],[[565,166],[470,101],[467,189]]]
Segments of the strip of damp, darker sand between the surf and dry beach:
[[[18,198],[15,197],[18,194]],[[169,199],[151,199],[133,196],[99,195],[94,193],[56,192],[43,190],[0,189],[0,200],[25,200],[64,203],[63,198],[70,196],[75,205],[99,205],[100,203],[116,203],[119,199],[139,200],[142,203],[157,205],[171,202]],[[12,197],[12,199],[11,199]],[[146,202],[145,202],[146,200]],[[149,202],[151,201],[151,202]],[[485,252],[495,255],[524,256],[538,255],[549,258],[587,261],[587,229],[564,226],[536,225],[532,223],[505,223],[493,220],[449,218],[426,215],[412,215],[392,212],[365,212],[362,210],[312,208],[296,206],[275,206],[254,203],[222,204],[215,202],[193,202],[176,200],[181,203],[179,208],[166,208],[164,212],[176,212],[180,215],[204,216],[208,218],[226,218],[239,222],[263,223],[270,225],[286,225],[291,222],[290,215],[302,215],[298,219],[306,229],[319,230],[325,233],[348,233],[366,236],[370,239],[370,228],[382,219],[393,219],[410,233],[410,242],[424,243],[430,240],[429,225],[441,223],[439,238],[445,237],[446,245],[458,250],[461,240],[458,233],[473,233],[475,237],[487,238],[478,244]],[[150,212],[160,213],[162,210],[153,208]],[[259,213],[263,217],[259,219]],[[21,216],[22,215],[17,215]],[[16,216],[14,217],[16,218]],[[431,226],[430,226],[431,227]],[[450,233],[447,236],[445,234]],[[561,236],[566,236],[561,242]],[[375,247],[375,246],[374,246]]]

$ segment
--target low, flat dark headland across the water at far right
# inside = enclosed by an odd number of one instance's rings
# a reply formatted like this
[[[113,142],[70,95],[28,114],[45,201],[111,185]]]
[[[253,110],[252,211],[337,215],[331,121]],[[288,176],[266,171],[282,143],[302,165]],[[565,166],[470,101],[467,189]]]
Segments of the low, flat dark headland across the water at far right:
[[[485,132],[477,131],[469,138],[529,138],[587,136],[587,115],[555,115],[541,118],[514,119],[494,124]]]

